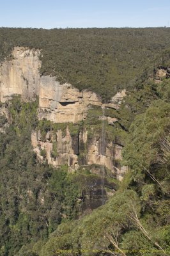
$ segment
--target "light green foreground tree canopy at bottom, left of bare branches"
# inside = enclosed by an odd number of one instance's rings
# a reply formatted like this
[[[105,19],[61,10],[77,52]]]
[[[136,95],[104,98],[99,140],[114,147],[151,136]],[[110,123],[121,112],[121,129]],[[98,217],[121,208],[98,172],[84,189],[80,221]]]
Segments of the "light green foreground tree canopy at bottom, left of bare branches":
[[[94,210],[82,220],[61,225],[43,246],[40,256],[50,256],[57,250],[80,250],[88,252],[82,255],[89,255],[91,250],[106,249],[109,242],[105,234],[111,232],[114,222],[121,223],[121,232],[123,225],[128,225],[127,215],[130,212],[131,201],[138,208],[134,191],[118,193],[107,204]]]

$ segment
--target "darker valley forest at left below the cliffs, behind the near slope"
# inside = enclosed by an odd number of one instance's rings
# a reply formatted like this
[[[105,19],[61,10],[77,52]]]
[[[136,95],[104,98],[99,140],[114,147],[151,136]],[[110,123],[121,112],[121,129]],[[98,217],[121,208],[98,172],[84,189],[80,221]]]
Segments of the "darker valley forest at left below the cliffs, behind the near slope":
[[[14,97],[4,106],[10,116],[7,120],[0,115],[0,255],[13,256],[24,244],[45,241],[62,221],[78,218],[88,209],[86,204],[97,207],[93,196],[86,202],[86,195],[100,191],[101,177],[86,170],[73,175],[67,166],[56,170],[39,163],[31,147],[31,131],[42,125],[38,101]]]

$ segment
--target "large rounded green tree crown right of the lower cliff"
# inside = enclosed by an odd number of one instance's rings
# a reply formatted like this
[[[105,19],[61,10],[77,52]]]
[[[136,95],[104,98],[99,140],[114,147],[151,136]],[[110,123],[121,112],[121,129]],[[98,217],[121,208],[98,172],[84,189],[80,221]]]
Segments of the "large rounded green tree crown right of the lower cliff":
[[[130,137],[123,156],[134,170],[148,168],[157,161],[158,143],[170,122],[170,105],[155,100],[146,113],[137,115],[130,126]]]

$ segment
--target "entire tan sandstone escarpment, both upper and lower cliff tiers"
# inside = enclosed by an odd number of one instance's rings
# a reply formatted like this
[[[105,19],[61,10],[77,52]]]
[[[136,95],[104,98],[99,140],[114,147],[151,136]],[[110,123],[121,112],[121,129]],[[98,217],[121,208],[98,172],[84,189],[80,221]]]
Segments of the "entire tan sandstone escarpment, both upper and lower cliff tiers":
[[[20,95],[25,101],[38,97],[38,120],[65,124],[64,128],[42,131],[37,127],[32,132],[33,150],[41,161],[47,159],[54,166],[67,164],[70,170],[97,164],[121,179],[126,170],[120,164],[123,143],[116,143],[114,134],[120,127],[116,116],[105,115],[102,109],[120,108],[126,90],[103,103],[95,92],[81,92],[72,84],[60,84],[56,77],[40,76],[40,54],[40,50],[15,47],[13,57],[1,63],[1,102],[13,95]]]

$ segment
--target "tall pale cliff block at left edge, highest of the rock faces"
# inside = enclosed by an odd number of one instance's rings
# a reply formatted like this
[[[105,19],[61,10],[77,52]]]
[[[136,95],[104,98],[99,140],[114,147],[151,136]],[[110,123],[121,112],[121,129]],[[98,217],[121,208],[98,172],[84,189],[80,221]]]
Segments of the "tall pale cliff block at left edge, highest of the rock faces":
[[[22,95],[24,100],[33,100],[39,92],[40,51],[25,47],[13,49],[12,60],[0,64],[0,100],[12,95]]]

